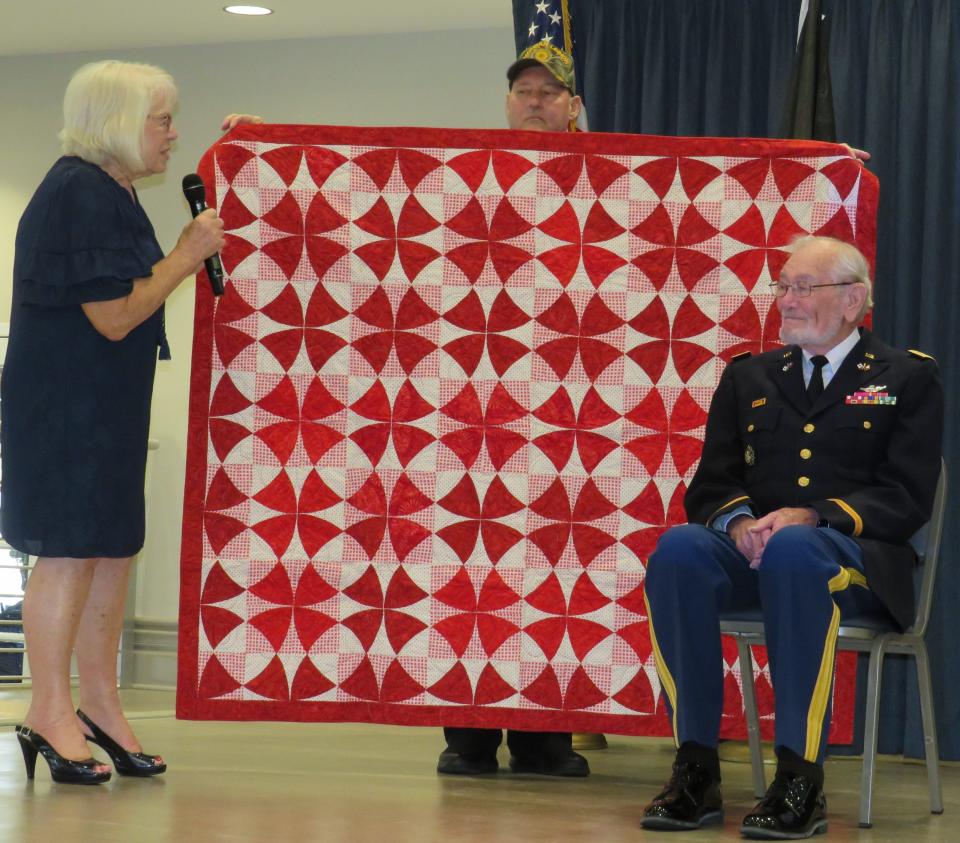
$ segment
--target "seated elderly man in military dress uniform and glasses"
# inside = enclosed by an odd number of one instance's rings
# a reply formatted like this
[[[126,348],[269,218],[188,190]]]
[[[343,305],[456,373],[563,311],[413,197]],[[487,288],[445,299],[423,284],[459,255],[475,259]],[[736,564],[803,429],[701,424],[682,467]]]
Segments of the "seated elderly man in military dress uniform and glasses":
[[[797,240],[771,286],[785,346],[727,367],[684,501],[691,523],[667,531],[647,567],[650,637],[679,749],[644,828],[723,819],[721,612],[759,606],[766,626],[777,773],[741,826],[763,839],[827,829],[840,619],[913,619],[908,539],[930,516],[940,468],[937,366],[858,330],[871,284],[849,244]]]

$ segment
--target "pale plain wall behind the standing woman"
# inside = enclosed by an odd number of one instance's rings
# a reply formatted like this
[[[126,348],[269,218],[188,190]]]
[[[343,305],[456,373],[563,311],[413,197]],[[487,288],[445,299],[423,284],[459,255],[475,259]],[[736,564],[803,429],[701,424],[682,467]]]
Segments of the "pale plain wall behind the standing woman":
[[[122,58],[158,64],[180,87],[180,141],[168,173],[138,185],[165,249],[187,217],[180,179],[196,168],[231,111],[277,123],[357,126],[503,125],[509,29],[331,38],[110,54],[0,58],[0,322],[9,318],[17,221],[59,154],[63,90],[81,64]],[[160,450],[150,475],[147,544],[140,557],[136,613],[177,616],[180,524],[193,329],[193,281],[167,303],[174,359],[160,363],[151,435]]]

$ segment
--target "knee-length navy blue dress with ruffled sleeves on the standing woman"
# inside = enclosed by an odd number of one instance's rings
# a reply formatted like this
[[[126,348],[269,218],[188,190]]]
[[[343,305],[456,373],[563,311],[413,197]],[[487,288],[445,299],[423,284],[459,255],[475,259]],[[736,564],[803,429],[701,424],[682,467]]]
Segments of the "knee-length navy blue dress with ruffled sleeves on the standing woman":
[[[17,229],[10,339],[0,383],[0,527],[34,556],[132,556],[163,308],[123,340],[81,308],[122,298],[163,257],[139,202],[80,158],[61,158]]]

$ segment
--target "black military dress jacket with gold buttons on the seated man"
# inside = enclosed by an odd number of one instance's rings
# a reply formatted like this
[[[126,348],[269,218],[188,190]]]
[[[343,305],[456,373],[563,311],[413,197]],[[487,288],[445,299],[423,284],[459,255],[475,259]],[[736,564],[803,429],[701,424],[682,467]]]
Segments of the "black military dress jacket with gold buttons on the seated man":
[[[818,526],[860,544],[868,585],[906,628],[915,611],[908,542],[930,517],[942,435],[934,360],[864,329],[812,406],[797,346],[738,359],[710,406],[687,517],[710,524],[741,506],[757,517],[813,507]]]

